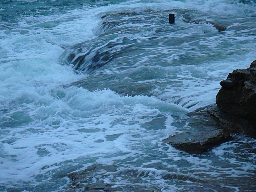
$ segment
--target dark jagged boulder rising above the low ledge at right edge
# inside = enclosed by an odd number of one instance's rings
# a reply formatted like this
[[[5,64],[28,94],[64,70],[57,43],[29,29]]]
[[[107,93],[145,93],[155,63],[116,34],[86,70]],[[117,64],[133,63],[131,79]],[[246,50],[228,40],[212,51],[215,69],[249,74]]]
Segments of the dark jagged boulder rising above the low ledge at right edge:
[[[216,96],[220,111],[256,125],[256,60],[250,68],[234,70],[220,85]]]

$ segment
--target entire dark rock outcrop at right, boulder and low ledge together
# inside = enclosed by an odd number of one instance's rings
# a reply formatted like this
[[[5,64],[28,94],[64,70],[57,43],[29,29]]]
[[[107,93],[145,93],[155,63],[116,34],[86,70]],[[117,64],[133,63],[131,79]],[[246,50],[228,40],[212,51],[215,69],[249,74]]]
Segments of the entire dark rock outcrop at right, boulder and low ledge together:
[[[217,106],[188,113],[184,121],[191,130],[163,141],[190,154],[202,154],[232,139],[232,133],[256,138],[256,60],[250,68],[234,70],[220,85]]]

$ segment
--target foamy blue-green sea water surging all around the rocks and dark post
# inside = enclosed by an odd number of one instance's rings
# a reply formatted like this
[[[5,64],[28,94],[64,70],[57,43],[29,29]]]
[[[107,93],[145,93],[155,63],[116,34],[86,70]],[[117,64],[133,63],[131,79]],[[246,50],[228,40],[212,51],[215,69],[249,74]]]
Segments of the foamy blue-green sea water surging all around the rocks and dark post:
[[[1,0],[0,191],[256,191],[255,139],[162,142],[255,59],[255,0]]]

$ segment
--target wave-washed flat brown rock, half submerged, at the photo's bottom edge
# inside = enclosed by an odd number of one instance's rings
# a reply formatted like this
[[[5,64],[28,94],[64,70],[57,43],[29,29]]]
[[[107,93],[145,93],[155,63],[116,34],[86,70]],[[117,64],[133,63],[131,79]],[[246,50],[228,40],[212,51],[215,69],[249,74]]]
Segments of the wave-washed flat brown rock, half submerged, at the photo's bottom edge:
[[[156,164],[155,164],[156,165]],[[133,167],[130,164],[95,164],[84,170],[68,175],[72,183],[65,192],[160,192],[162,186],[152,185],[151,182],[165,180],[186,184],[187,182],[207,183],[207,180],[195,177],[187,172],[175,171],[164,164],[150,164],[144,168]],[[153,167],[152,167],[153,166]]]

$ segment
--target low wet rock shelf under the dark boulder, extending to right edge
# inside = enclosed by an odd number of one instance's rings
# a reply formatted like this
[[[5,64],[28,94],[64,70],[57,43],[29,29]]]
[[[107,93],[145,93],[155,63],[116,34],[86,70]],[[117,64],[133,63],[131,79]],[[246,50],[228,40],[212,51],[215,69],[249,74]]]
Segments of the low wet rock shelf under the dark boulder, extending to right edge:
[[[212,147],[232,140],[232,134],[256,138],[256,129],[244,118],[223,113],[216,105],[188,113],[180,124],[188,123],[191,130],[163,140],[190,154],[202,154]]]

